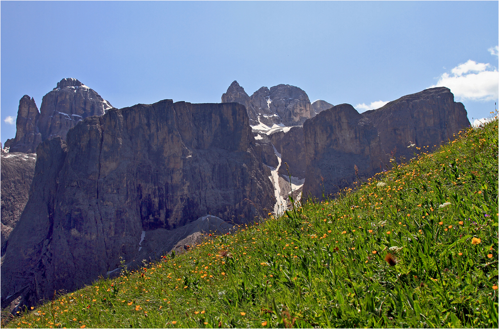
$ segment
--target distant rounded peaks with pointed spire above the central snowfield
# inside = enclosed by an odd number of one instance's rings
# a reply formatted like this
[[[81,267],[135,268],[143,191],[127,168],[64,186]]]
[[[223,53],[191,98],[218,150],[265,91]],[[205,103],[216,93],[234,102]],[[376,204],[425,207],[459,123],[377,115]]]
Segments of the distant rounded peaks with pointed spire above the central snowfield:
[[[254,125],[262,123],[268,127],[299,126],[318,112],[332,107],[331,104],[319,100],[314,102],[315,108],[313,108],[303,90],[284,84],[270,89],[261,87],[250,97],[237,81],[234,81],[222,95],[222,103],[225,102],[243,104],[248,110],[250,119],[254,120]]]

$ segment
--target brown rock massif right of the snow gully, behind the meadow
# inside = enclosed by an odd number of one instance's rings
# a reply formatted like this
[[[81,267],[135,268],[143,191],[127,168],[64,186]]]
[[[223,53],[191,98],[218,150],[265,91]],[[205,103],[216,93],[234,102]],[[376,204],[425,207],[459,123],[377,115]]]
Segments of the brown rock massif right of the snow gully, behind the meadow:
[[[407,161],[416,147],[439,146],[470,122],[448,88],[407,95],[359,114],[341,104],[303,125],[306,173],[303,195],[321,198],[365,181],[390,159]],[[357,166],[358,172],[355,172]]]

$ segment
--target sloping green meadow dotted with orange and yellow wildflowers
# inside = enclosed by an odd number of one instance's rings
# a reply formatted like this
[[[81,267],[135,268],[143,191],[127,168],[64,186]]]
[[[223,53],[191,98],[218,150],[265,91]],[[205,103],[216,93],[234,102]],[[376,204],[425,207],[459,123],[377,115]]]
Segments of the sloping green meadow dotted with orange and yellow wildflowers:
[[[498,153],[496,113],[356,191],[207,236],[6,326],[497,328]]]

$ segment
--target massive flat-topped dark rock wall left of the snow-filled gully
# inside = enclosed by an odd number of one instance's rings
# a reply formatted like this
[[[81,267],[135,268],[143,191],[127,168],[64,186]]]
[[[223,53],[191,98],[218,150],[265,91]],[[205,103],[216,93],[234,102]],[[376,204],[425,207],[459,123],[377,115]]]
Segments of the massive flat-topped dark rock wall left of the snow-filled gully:
[[[275,199],[258,155],[236,103],[112,109],[81,121],[67,142],[43,142],[1,267],[2,308],[17,296],[30,306],[77,289],[120,256],[141,260],[142,231],[152,237],[207,214],[235,223],[263,216]]]

